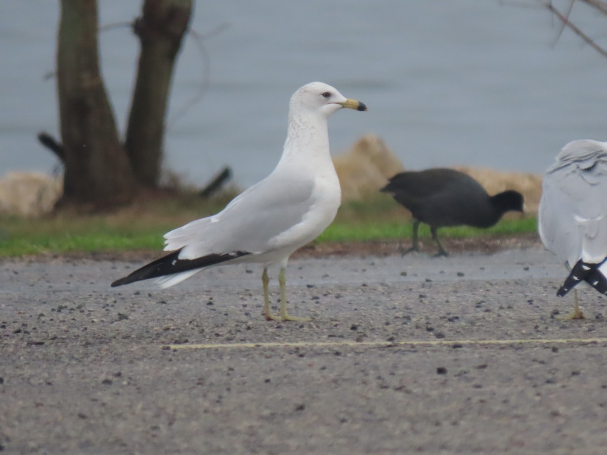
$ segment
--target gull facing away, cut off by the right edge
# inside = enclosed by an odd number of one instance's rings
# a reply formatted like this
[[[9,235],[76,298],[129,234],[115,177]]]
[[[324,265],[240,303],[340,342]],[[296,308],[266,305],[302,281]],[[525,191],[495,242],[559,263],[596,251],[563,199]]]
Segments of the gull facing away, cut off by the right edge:
[[[541,241],[570,269],[557,295],[581,281],[607,294],[607,142],[567,144],[546,171],[542,189]],[[574,312],[566,318],[583,318],[575,289],[574,298]]]

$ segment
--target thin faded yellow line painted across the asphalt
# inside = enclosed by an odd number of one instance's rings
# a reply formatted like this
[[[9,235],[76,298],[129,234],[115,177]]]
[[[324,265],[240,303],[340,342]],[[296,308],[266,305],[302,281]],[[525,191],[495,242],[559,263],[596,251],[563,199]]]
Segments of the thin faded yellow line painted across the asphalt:
[[[269,343],[209,343],[169,345],[171,349],[251,349],[251,348],[339,348],[341,346],[442,346],[442,345],[545,345],[568,343],[607,343],[607,338],[529,338],[519,340],[404,340],[363,341],[343,340],[338,342],[269,342]]]

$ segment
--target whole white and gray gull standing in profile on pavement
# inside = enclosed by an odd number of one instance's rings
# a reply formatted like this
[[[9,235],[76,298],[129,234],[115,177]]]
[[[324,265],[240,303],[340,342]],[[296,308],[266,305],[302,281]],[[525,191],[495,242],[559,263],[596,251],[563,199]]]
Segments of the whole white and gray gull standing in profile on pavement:
[[[158,260],[114,281],[112,287],[157,278],[173,286],[217,264],[262,263],[264,314],[270,320],[309,320],[287,312],[285,268],[293,252],[331,224],[341,204],[339,180],[329,153],[327,118],[348,107],[367,110],[327,84],[314,82],[291,96],[287,141],[274,171],[223,211],[164,235]],[[280,265],[280,314],[270,312],[268,266]]]

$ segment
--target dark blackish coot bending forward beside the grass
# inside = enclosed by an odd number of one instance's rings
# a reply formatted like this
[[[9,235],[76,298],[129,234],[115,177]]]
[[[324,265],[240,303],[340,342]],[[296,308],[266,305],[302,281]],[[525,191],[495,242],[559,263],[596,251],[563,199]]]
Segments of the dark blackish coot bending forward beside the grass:
[[[419,251],[419,223],[430,225],[432,238],[438,245],[438,255],[447,256],[436,235],[439,227],[461,224],[491,227],[505,212],[523,211],[523,195],[520,193],[506,190],[489,196],[480,183],[455,169],[401,172],[390,178],[381,191],[391,193],[398,203],[409,209],[415,220],[413,246],[403,254]]]

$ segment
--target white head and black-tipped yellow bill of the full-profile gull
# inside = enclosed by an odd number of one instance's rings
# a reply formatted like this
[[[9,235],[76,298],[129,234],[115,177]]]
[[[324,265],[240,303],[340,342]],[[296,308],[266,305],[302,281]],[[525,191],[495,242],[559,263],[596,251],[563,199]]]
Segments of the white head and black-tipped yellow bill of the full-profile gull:
[[[367,106],[356,99],[346,98],[337,89],[322,82],[313,82],[300,87],[291,96],[291,112],[314,112],[328,118],[342,107],[354,110],[367,110]]]

